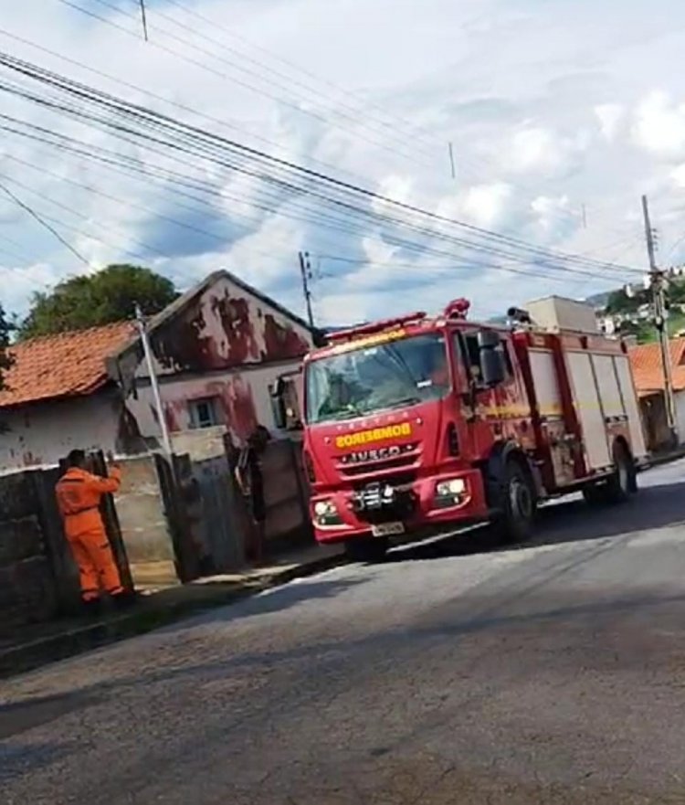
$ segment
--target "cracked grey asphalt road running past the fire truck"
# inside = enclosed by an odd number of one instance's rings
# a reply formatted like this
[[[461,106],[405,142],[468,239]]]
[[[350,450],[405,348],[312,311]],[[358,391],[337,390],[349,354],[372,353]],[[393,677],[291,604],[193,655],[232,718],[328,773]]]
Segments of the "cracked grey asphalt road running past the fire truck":
[[[685,463],[0,683],[0,802],[685,803]]]

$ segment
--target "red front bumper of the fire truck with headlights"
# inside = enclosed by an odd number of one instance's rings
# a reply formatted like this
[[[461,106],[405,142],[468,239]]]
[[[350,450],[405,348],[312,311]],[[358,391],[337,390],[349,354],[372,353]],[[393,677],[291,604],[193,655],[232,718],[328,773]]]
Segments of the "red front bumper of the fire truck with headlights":
[[[310,514],[317,541],[335,543],[369,536],[411,538],[423,530],[479,522],[487,519],[488,506],[481,473],[469,469],[317,494]]]

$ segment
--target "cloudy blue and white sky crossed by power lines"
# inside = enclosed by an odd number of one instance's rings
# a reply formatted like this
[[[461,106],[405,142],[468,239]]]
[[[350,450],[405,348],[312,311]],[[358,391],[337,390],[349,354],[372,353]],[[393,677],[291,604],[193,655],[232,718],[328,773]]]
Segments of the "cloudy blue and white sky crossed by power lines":
[[[306,250],[321,325],[435,311],[459,296],[492,316],[549,293],[583,298],[640,281],[642,194],[659,262],[685,261],[679,0],[146,5],[147,42],[139,0],[0,0],[0,51],[443,219],[612,267],[542,270],[426,232],[398,244],[378,219],[341,226],[340,211],[333,228],[316,199],[271,191],[265,208],[256,181],[197,159],[184,171],[216,193],[179,194],[153,177],[168,156],[3,91],[14,129],[0,138],[0,184],[15,196],[0,189],[8,312],[24,314],[33,293],[68,276],[135,262],[181,289],[228,269],[302,314]],[[0,89],[10,80],[0,68]],[[17,120],[135,157],[151,175],[26,138]],[[447,221],[429,226],[469,237]]]

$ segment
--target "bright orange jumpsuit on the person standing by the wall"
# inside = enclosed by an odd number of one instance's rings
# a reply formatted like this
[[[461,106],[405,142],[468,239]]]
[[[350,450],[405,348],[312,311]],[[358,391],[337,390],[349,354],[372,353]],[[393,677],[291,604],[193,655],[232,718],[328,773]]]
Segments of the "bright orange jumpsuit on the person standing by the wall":
[[[84,601],[100,598],[100,588],[112,596],[124,592],[119,568],[100,516],[102,495],[116,492],[120,483],[121,471],[118,469],[112,469],[110,478],[100,478],[79,467],[71,467],[59,479],[56,487],[64,532],[79,566],[81,597]]]

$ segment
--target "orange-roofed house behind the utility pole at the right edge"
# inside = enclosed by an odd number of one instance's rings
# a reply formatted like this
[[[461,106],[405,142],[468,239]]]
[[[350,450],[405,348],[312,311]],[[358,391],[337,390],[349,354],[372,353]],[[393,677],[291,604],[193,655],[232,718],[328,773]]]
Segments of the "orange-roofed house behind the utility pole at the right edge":
[[[680,441],[685,441],[685,338],[669,341],[670,365],[676,400]],[[669,444],[669,427],[664,400],[664,370],[659,344],[640,344],[628,349],[638,391],[640,414],[649,450]]]

